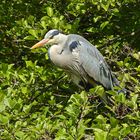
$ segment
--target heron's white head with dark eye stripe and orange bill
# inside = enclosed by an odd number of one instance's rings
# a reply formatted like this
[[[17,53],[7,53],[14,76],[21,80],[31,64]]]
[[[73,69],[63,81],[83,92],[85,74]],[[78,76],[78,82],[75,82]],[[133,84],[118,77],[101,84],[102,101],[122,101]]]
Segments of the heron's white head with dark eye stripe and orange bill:
[[[36,43],[34,46],[32,46],[31,49],[42,47],[45,44],[48,44],[48,45],[58,44],[61,41],[63,41],[63,36],[64,34],[62,34],[60,31],[56,29],[50,30],[46,33],[44,39],[42,39],[41,41]]]

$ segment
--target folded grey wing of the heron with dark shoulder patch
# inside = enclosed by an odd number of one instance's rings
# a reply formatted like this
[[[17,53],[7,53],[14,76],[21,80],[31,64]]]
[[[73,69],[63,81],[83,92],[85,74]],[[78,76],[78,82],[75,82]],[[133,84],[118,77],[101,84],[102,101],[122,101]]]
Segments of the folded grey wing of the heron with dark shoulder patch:
[[[113,76],[102,54],[90,42],[78,37],[78,41],[71,43],[70,49],[73,50],[73,55],[78,55],[80,67],[90,78],[107,89],[112,89],[114,85],[118,85],[117,79]]]

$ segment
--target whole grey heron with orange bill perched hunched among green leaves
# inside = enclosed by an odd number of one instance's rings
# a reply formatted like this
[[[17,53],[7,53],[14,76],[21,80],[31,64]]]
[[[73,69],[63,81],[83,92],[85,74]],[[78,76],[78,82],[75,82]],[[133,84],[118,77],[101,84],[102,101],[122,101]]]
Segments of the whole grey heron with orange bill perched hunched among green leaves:
[[[36,43],[31,49],[52,45],[49,50],[50,60],[62,68],[81,88],[89,89],[94,84],[101,84],[112,90],[118,85],[99,50],[88,40],[77,34],[65,35],[53,29],[46,33],[43,40]]]

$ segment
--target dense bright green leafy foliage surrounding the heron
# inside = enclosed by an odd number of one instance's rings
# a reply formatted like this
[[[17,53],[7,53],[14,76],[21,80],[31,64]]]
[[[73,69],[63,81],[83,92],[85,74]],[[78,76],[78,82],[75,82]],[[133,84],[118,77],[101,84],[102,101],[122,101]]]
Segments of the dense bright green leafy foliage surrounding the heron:
[[[140,139],[139,7],[139,0],[1,0],[0,139]],[[29,49],[53,28],[96,44],[127,96],[117,87],[81,91],[47,47]]]

